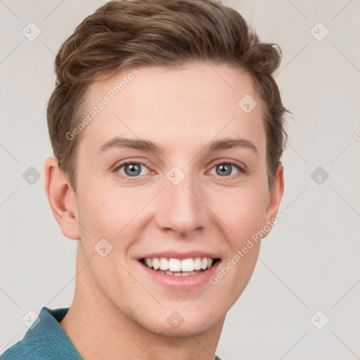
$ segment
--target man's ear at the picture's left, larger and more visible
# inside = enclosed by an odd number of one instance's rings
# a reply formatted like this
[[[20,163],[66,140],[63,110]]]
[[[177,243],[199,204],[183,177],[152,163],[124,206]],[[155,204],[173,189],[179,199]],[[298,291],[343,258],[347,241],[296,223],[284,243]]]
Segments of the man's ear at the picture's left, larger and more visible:
[[[67,238],[79,240],[76,194],[70,182],[65,179],[56,158],[46,160],[44,181],[51,211],[56,221],[58,221],[61,231]]]

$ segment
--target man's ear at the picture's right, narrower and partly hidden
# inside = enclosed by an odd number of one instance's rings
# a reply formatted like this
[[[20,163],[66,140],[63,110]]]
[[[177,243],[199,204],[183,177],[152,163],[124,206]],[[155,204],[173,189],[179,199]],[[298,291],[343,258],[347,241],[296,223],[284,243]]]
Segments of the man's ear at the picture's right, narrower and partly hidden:
[[[271,230],[271,227],[274,224],[274,221],[277,221],[278,217],[276,216],[278,214],[278,207],[280,206],[281,198],[283,197],[284,193],[284,171],[283,171],[283,165],[278,165],[278,168],[276,169],[276,173],[274,176],[274,183],[273,187],[270,190],[269,193],[269,205],[266,208],[266,214],[264,217],[264,224],[263,229],[266,231],[266,235],[269,235],[269,232]],[[265,237],[264,236],[264,237]]]

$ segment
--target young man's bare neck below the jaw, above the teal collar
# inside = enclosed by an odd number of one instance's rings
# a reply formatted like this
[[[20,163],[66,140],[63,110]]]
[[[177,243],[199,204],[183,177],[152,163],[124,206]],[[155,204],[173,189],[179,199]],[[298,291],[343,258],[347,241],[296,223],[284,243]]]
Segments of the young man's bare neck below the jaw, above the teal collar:
[[[98,289],[79,243],[74,300],[60,326],[83,359],[212,360],[224,321],[181,338],[150,332]]]

